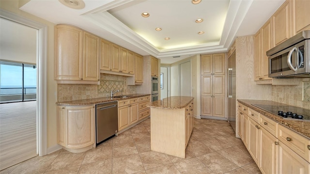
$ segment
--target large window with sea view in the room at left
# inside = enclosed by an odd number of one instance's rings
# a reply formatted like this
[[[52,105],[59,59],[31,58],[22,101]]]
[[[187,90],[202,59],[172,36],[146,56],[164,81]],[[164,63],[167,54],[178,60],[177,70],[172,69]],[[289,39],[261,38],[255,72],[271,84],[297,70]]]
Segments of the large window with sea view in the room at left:
[[[0,103],[36,100],[36,65],[0,61]]]

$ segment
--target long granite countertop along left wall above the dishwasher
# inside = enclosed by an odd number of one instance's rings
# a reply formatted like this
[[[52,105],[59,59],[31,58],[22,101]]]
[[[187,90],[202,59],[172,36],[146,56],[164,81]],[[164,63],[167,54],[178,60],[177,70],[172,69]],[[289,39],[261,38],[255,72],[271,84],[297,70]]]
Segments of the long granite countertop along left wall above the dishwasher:
[[[68,105],[68,106],[79,106],[79,105],[93,105],[93,104],[99,104],[109,101],[118,101],[118,100],[126,100],[130,98],[136,98],[141,96],[148,96],[150,94],[128,94],[130,96],[124,97],[124,98],[112,98],[111,97],[101,97],[101,98],[91,98],[91,99],[83,99],[83,100],[73,100],[73,101],[62,101],[62,102],[56,102],[57,105]]]

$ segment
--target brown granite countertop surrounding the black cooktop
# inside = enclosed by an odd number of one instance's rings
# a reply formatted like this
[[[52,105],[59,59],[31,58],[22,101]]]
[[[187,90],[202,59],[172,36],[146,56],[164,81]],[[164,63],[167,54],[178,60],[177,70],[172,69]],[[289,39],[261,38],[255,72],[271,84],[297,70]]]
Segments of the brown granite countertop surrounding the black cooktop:
[[[292,130],[304,135],[305,137],[308,137],[310,139],[310,121],[297,121],[297,120],[290,120],[290,119],[283,119],[282,117],[273,114],[268,111],[264,111],[260,108],[257,108],[253,106],[252,104],[256,105],[281,105],[281,106],[290,106],[283,103],[278,103],[275,101],[269,101],[269,100],[243,100],[243,99],[237,99],[238,102],[241,104],[244,104],[245,106],[248,106],[249,108],[260,112],[264,116],[278,122],[281,125],[284,125],[286,127],[291,128]]]

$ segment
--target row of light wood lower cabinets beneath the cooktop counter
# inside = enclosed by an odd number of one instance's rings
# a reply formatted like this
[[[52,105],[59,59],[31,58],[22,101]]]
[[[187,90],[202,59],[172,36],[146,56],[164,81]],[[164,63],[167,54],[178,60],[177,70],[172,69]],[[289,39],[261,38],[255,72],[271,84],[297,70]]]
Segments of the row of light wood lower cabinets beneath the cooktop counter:
[[[310,174],[309,138],[260,113],[258,120],[261,124],[259,124],[246,114],[247,110],[248,108],[242,107],[238,109],[237,130],[261,172]]]

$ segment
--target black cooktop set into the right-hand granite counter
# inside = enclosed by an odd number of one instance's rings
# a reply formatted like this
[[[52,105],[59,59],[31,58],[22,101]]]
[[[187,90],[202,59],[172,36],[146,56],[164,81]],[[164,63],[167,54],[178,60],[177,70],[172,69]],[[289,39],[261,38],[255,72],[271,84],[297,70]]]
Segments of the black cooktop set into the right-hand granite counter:
[[[262,110],[271,112],[284,119],[294,119],[301,121],[310,121],[310,110],[294,107],[294,106],[281,106],[281,105],[255,105]]]

